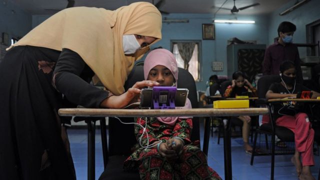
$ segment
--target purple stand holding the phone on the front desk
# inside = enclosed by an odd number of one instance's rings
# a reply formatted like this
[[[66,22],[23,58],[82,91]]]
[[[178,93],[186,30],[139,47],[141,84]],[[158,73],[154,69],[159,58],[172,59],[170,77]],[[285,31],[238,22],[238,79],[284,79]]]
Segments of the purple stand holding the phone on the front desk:
[[[162,93],[161,92],[165,92]],[[167,93],[166,93],[167,92]],[[152,103],[154,109],[174,109],[176,87],[154,86],[152,88]]]

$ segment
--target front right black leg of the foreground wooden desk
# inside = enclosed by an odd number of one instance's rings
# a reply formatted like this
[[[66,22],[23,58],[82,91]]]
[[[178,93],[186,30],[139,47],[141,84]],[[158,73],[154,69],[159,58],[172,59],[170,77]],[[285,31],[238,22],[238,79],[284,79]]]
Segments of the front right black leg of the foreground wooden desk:
[[[223,131],[223,151],[224,151],[224,178],[226,180],[232,179],[231,166],[231,120],[227,119]]]

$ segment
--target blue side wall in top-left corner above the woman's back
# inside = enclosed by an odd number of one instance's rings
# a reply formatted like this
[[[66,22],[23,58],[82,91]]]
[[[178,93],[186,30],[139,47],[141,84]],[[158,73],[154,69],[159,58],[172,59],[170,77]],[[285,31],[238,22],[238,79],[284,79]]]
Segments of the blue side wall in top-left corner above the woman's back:
[[[0,3],[0,32],[22,37],[31,30],[31,15],[8,0]]]

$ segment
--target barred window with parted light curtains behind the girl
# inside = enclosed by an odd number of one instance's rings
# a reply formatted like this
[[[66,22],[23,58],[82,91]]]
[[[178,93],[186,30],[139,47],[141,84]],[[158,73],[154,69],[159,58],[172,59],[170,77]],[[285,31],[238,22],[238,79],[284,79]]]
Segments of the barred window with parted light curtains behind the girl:
[[[192,45],[190,55],[191,58],[189,60],[183,59],[181,53],[179,52],[178,43],[195,43],[194,47]],[[193,76],[194,80],[200,80],[200,73],[199,73],[199,57],[200,57],[200,41],[197,40],[188,40],[188,41],[171,41],[172,44],[172,51],[177,61],[178,67],[187,69]],[[183,53],[183,52],[182,52]],[[185,52],[187,53],[187,52]],[[188,56],[187,54],[185,56]],[[187,63],[187,64],[186,64]]]

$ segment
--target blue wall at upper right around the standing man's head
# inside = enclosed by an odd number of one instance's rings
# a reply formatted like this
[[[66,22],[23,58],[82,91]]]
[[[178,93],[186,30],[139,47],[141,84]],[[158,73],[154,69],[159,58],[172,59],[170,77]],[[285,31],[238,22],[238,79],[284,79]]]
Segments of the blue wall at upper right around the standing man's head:
[[[320,0],[310,0],[285,15],[279,15],[280,12],[294,5],[295,2],[296,0],[291,0],[270,14],[268,44],[273,43],[273,38],[277,36],[277,27],[282,21],[290,21],[296,25],[296,31],[293,36],[295,43],[306,43],[305,25],[320,19]],[[306,47],[299,47],[299,53],[300,57],[305,56]]]

